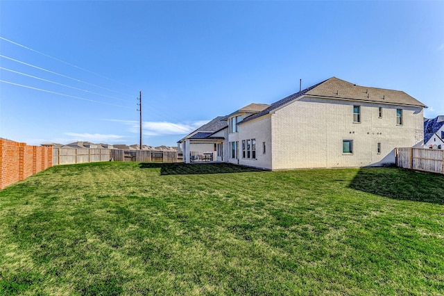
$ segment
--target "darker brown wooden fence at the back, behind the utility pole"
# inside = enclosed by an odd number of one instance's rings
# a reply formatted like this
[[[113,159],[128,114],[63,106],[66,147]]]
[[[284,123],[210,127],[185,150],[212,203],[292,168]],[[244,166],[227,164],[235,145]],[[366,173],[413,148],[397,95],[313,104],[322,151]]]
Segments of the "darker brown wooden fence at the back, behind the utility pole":
[[[177,151],[152,151],[152,150],[124,150],[111,149],[113,161],[138,161],[138,162],[158,162],[177,163]]]

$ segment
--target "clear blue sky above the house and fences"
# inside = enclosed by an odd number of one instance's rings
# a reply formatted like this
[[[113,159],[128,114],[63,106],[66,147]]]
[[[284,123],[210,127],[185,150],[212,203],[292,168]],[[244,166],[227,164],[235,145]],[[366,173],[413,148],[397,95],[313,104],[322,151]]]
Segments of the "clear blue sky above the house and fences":
[[[443,1],[0,1],[0,137],[174,146],[332,76],[444,115]]]

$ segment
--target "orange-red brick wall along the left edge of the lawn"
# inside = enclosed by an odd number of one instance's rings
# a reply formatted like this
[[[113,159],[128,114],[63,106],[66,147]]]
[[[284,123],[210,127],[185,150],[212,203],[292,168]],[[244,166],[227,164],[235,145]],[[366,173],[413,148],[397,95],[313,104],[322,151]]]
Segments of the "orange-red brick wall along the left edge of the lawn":
[[[52,147],[0,139],[0,189],[52,167]]]

